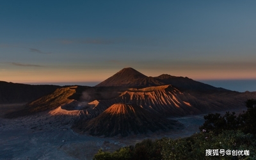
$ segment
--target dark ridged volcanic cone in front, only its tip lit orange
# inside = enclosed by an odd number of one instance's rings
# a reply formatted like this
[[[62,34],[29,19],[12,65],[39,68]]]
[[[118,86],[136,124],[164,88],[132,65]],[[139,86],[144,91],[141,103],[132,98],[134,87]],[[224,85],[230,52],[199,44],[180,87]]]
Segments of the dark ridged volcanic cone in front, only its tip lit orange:
[[[74,125],[79,132],[93,136],[128,136],[146,134],[148,131],[172,129],[181,126],[177,121],[168,120],[134,104],[113,104],[96,118]]]

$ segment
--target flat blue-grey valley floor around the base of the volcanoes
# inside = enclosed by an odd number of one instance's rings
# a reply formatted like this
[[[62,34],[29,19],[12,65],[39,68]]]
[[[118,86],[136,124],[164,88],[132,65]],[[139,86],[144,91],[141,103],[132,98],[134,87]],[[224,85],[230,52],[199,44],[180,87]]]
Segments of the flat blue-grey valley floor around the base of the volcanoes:
[[[74,117],[51,116],[44,112],[15,119],[3,118],[4,113],[21,105],[0,105],[0,159],[92,159],[100,148],[113,152],[147,138],[191,136],[200,132],[198,127],[204,123],[204,115],[176,117],[172,119],[184,124],[183,129],[127,138],[99,138],[73,132],[70,126]]]

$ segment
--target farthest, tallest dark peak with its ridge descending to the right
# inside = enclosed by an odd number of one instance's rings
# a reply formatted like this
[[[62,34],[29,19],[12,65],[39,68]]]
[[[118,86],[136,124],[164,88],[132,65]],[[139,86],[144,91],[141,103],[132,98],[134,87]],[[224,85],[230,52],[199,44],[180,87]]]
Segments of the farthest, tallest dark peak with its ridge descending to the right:
[[[169,74],[161,74],[157,77],[145,76],[135,70],[134,68],[127,67],[118,71],[113,76],[97,84],[98,86],[127,86],[127,87],[148,87],[148,86],[161,86],[171,84],[181,91],[193,92],[207,92],[207,91],[228,91],[224,88],[216,88],[209,84],[204,84],[194,81],[188,77],[170,76]]]

